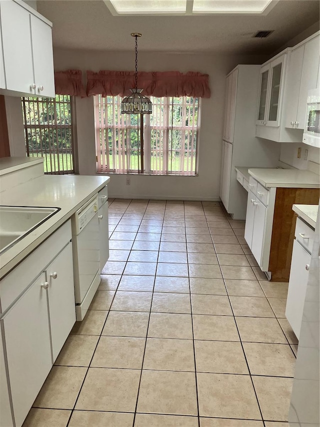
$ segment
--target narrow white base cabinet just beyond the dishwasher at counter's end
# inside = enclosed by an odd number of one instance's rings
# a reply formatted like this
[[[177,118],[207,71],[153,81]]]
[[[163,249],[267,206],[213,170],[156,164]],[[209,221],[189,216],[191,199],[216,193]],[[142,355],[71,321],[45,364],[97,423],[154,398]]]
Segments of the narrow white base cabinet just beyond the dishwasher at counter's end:
[[[100,270],[109,258],[108,192],[107,186],[98,192],[98,219],[100,235]]]

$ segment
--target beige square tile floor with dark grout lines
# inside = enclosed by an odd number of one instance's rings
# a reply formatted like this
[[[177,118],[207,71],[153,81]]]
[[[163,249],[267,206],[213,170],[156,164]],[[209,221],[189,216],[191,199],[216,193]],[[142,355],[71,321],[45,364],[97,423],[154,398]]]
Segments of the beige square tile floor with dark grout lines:
[[[218,202],[109,200],[98,291],[23,427],[284,427],[296,338]]]

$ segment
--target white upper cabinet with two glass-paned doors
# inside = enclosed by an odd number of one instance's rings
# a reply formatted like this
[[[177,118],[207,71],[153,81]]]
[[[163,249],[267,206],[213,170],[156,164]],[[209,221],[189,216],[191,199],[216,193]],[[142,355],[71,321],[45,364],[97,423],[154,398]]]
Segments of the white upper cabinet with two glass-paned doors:
[[[261,67],[257,125],[279,126],[286,57],[284,53]]]

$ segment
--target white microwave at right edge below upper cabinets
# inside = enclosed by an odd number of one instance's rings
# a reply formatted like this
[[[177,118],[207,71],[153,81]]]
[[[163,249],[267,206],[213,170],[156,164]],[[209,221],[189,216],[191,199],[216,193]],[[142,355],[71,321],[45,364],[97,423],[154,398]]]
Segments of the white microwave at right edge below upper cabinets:
[[[320,89],[308,92],[302,142],[320,147]]]

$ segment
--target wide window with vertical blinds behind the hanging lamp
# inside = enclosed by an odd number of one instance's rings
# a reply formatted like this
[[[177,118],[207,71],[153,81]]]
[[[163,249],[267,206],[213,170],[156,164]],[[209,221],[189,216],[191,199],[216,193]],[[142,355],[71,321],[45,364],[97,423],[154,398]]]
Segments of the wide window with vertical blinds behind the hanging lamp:
[[[97,172],[197,173],[200,99],[150,99],[152,114],[140,123],[120,113],[119,96],[94,96]]]

